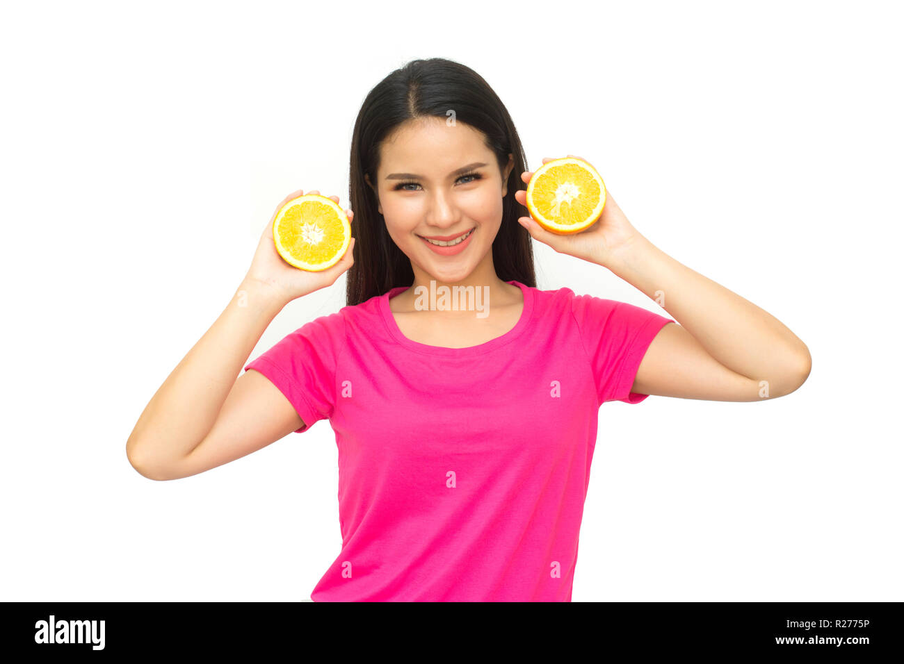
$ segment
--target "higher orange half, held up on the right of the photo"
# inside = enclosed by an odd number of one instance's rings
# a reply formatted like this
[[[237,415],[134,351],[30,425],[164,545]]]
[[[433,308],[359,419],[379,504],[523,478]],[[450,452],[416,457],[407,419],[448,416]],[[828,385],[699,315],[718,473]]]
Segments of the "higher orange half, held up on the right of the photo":
[[[533,172],[527,209],[544,229],[560,235],[593,226],[606,205],[606,185],[583,159],[553,159]]]

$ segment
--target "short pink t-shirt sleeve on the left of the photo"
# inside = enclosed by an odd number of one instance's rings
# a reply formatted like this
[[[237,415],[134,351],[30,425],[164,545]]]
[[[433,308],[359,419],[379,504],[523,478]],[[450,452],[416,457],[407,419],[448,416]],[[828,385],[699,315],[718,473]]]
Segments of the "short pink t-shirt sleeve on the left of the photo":
[[[344,344],[344,317],[331,313],[290,332],[245,370],[259,371],[286,396],[306,425],[296,429],[300,434],[333,414],[336,363]]]

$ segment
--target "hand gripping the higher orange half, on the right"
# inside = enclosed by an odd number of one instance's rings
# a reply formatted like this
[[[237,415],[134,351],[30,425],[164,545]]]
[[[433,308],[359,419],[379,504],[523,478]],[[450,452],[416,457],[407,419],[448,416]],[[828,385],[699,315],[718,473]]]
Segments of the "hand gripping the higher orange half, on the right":
[[[569,154],[574,157],[574,154]],[[576,157],[583,159],[583,157]],[[551,157],[543,157],[543,164],[551,162]],[[584,159],[583,161],[587,161]],[[589,162],[588,162],[589,163]],[[521,179],[525,184],[531,182],[533,172],[524,172]],[[515,201],[527,208],[527,192],[519,190],[514,194]],[[599,219],[589,229],[581,230],[572,235],[559,235],[544,229],[531,216],[520,217],[519,223],[528,230],[531,237],[549,245],[560,254],[568,254],[583,258],[591,263],[608,267],[611,261],[623,254],[631,245],[640,238],[640,233],[627,220],[624,212],[618,207],[612,193],[606,191],[606,204]]]

